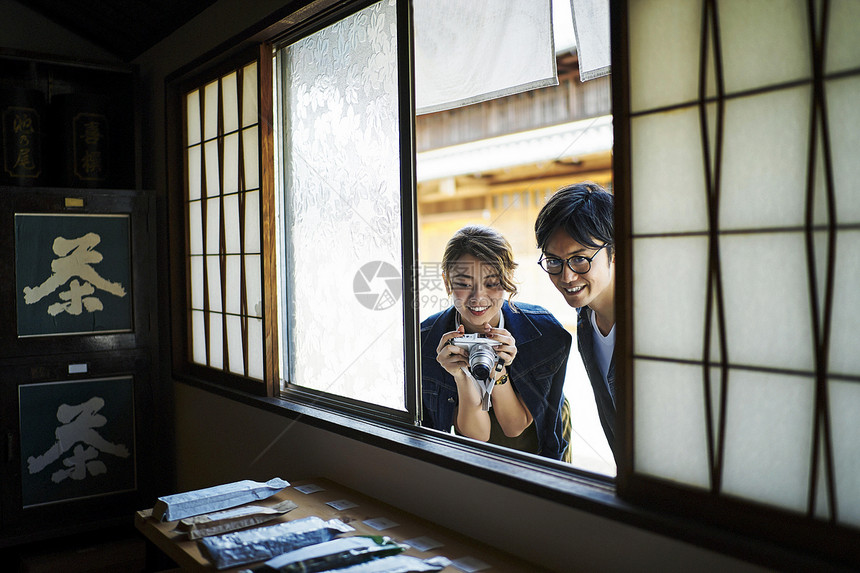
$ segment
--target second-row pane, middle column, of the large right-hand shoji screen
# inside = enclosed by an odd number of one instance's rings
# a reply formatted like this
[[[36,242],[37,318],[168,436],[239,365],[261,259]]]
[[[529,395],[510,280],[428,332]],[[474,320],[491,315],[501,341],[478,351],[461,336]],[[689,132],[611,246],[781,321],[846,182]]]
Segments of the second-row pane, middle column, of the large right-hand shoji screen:
[[[722,229],[803,224],[809,107],[807,86],[726,102]]]

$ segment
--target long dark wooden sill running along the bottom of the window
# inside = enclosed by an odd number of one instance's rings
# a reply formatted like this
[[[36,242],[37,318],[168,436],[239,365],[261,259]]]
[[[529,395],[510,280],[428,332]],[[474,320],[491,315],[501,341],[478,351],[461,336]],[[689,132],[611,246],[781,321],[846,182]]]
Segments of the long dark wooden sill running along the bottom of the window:
[[[561,462],[519,452],[500,452],[493,446],[482,447],[459,436],[406,424],[366,420],[281,398],[256,396],[199,379],[183,377],[179,381],[371,446],[765,567],[796,568],[800,564],[802,568],[817,571],[842,570],[818,556],[669,513],[671,508],[634,505],[616,495],[610,478],[586,475]]]

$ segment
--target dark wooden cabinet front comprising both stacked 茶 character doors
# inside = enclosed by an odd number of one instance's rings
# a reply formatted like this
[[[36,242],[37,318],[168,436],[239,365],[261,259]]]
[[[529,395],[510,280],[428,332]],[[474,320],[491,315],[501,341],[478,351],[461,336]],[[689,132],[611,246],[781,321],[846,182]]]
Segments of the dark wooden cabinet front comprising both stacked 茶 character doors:
[[[154,211],[146,191],[0,187],[0,547],[152,502]]]

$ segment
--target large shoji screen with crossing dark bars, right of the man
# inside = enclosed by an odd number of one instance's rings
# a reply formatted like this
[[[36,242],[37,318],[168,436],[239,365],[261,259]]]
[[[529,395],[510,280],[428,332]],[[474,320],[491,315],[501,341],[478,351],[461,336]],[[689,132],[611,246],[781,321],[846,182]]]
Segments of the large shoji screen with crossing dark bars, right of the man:
[[[860,525],[860,2],[627,6],[633,471]]]

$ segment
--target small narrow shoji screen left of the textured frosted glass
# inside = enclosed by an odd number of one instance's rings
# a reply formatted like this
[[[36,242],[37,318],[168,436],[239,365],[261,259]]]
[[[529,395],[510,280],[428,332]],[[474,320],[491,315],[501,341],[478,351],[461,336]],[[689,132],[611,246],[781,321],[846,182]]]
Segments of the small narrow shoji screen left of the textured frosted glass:
[[[257,64],[188,92],[193,362],[263,379]]]

